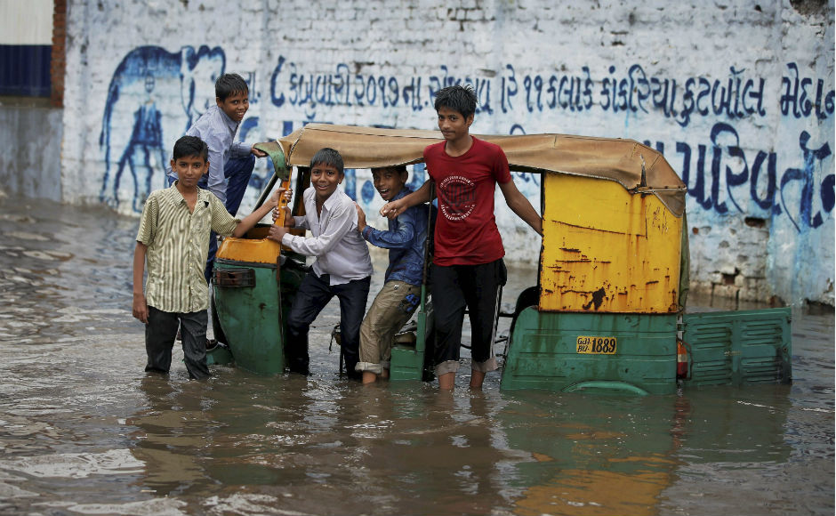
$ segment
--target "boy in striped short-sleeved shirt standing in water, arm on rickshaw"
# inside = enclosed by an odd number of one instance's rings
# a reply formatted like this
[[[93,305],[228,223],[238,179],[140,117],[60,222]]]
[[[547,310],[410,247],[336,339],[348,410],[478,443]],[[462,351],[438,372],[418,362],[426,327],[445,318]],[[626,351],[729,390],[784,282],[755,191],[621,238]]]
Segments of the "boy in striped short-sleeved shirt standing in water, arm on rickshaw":
[[[206,325],[209,288],[204,266],[209,231],[243,237],[277,206],[283,189],[243,221],[230,215],[221,199],[197,188],[209,170],[209,149],[197,136],[183,136],[174,144],[172,169],[177,181],[151,192],[142,209],[133,253],[133,317],[145,323],[146,371],[168,373],[177,327],[181,326],[183,354],[189,378],[209,376],[206,367]],[[148,281],[142,289],[145,263]]]

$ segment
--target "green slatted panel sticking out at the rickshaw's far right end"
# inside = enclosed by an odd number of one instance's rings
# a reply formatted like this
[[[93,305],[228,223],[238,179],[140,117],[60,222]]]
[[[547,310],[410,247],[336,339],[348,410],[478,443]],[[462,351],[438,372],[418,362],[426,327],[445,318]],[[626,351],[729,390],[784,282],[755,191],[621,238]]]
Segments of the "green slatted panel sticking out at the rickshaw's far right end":
[[[683,316],[686,385],[791,383],[789,307]]]

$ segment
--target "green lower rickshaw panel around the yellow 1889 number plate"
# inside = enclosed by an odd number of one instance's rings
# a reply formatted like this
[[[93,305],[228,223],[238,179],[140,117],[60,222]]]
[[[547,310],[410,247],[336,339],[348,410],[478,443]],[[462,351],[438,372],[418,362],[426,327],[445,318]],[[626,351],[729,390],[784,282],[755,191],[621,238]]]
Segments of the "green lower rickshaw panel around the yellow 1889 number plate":
[[[579,339],[610,339],[613,354],[579,352]],[[578,385],[650,394],[676,391],[675,314],[522,310],[502,371],[503,390],[572,391]]]

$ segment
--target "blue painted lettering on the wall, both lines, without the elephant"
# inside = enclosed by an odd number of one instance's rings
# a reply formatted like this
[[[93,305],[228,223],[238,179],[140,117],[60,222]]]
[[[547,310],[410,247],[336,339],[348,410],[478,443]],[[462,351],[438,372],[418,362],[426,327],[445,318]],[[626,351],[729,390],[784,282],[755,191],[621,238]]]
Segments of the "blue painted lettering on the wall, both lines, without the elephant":
[[[783,214],[798,231],[820,227],[824,217],[832,213],[834,175],[827,173],[832,171],[832,166],[828,167],[832,164],[831,141],[814,142],[810,133],[802,131],[797,137],[797,153],[786,152],[781,157],[786,162],[798,159],[800,165],[786,166],[779,173],[774,149],[751,150],[752,145],[740,140],[735,126],[740,120],[768,114],[764,103],[768,78],[747,69],[729,67],[722,79],[685,77],[678,81],[653,77],[638,64],[621,74],[610,66],[600,77],[593,76],[587,66],[574,75],[519,76],[508,64],[501,74],[488,78],[456,77],[440,66],[438,74],[406,79],[350,73],[345,63],[337,64],[332,73],[306,73],[303,68],[279,56],[270,77],[269,98],[278,108],[304,109],[306,117],[321,116],[322,111],[335,107],[431,109],[438,89],[470,84],[478,97],[480,116],[551,110],[590,116],[623,112],[661,115],[681,127],[696,118],[720,119],[723,121],[713,124],[703,142],[677,141],[666,155],[674,168],[681,159],[678,170],[695,206],[716,214],[737,212],[765,219]],[[824,122],[833,116],[836,92],[822,78],[802,77],[796,63],[786,65],[780,88],[782,117]],[[510,133],[515,132],[524,130],[515,124]],[[664,153],[663,142],[657,142],[656,149]],[[524,186],[526,181],[536,181],[527,174],[519,175],[518,180]]]

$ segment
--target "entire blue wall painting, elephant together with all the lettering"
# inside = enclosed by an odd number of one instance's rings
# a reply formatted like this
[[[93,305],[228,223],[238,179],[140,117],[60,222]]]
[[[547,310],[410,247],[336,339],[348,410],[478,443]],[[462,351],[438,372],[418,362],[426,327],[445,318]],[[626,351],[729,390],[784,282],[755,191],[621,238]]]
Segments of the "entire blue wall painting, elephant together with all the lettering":
[[[163,142],[183,133],[213,101],[214,79],[223,69],[223,51],[205,46],[197,51],[184,47],[181,52],[139,47],[125,56],[111,80],[102,121],[100,143],[106,162],[100,192],[103,202],[120,202],[120,183],[128,170],[134,192],[130,201],[133,209],[141,208],[154,186],[152,179],[162,181],[168,155]],[[282,134],[315,120],[327,122],[334,109],[341,107],[431,109],[438,90],[456,84],[474,86],[480,117],[514,117],[518,113],[530,119],[531,114],[551,110],[591,117],[623,113],[663,117],[683,128],[704,118],[711,123],[711,130],[696,141],[669,142],[667,148],[665,142],[655,142],[655,148],[687,183],[691,206],[719,215],[784,216],[800,232],[821,227],[832,214],[833,141],[818,141],[821,134],[801,130],[792,145],[782,146],[779,155],[776,149],[758,149],[757,144],[741,141],[738,133],[742,122],[768,116],[768,86],[778,89],[782,119],[813,124],[831,119],[836,93],[824,79],[804,77],[794,62],[786,65],[780,86],[771,84],[774,79],[770,77],[736,67],[729,67],[727,77],[711,80],[654,77],[638,64],[621,73],[615,66],[604,72],[595,74],[584,66],[575,74],[520,76],[508,64],[494,77],[457,77],[440,66],[437,74],[405,78],[350,73],[345,63],[337,64],[333,73],[309,73],[279,56],[269,73],[268,98],[273,108],[292,107],[303,112],[303,121],[281,123]],[[245,77],[254,104],[259,97],[254,91],[258,85],[255,72]],[[259,118],[245,119],[239,129],[240,140],[258,128]],[[509,133],[525,133],[525,129],[515,123]],[[823,133],[832,139],[832,133]],[[422,165],[415,165],[411,172],[409,186],[416,189],[426,175]],[[251,186],[261,188],[268,177],[269,165],[265,164],[262,171],[253,173]],[[515,179],[525,194],[539,195],[535,175],[518,174]],[[374,202],[374,187],[365,175],[358,177],[356,171],[346,170],[344,187],[358,202],[366,206]]]

